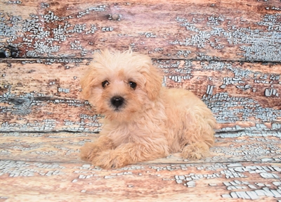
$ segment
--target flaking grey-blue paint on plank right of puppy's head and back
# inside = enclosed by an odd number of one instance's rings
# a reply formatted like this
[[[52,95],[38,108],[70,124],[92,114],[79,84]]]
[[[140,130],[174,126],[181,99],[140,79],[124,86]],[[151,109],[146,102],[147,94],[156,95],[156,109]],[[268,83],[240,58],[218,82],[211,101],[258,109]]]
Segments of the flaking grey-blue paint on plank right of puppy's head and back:
[[[192,65],[194,61],[156,61],[159,68],[164,72],[164,85],[169,84],[169,80],[173,82],[173,86],[183,85],[189,86],[190,79],[194,79]],[[197,64],[196,64],[197,66]],[[190,68],[191,67],[191,68]],[[264,99],[272,101],[276,99],[280,92],[280,74],[265,74],[251,68],[244,67],[240,63],[232,63],[227,61],[201,61],[200,70],[213,70],[215,73],[229,72],[230,77],[221,78],[221,84],[216,86],[208,84],[206,93],[202,96],[202,100],[214,113],[219,123],[229,123],[237,121],[259,120],[259,122],[273,122],[273,124],[281,117],[281,110],[278,107],[268,108],[261,104]],[[267,67],[269,68],[269,66]],[[214,77],[209,77],[213,80]],[[255,87],[255,83],[263,83],[260,89]],[[244,91],[251,93],[253,98],[249,96],[232,95],[228,93],[228,88],[236,87],[240,91],[237,94],[244,94]],[[204,89],[202,89],[203,91]],[[265,93],[266,92],[266,93]],[[263,96],[263,98],[261,98]],[[266,128],[259,128],[266,130]],[[273,133],[279,134],[278,131]],[[249,133],[250,134],[250,133]],[[237,134],[239,135],[239,134]],[[270,130],[253,134],[266,136],[271,135]]]

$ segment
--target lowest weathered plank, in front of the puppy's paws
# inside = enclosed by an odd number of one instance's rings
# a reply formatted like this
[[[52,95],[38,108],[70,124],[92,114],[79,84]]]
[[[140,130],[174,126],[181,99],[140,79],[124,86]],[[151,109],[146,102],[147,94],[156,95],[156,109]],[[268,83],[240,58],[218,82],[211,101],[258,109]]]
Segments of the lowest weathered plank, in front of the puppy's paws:
[[[275,178],[281,177],[280,165],[276,163],[155,164],[122,170],[12,160],[1,165],[6,166],[0,176],[1,198],[7,202],[280,199],[280,179]]]

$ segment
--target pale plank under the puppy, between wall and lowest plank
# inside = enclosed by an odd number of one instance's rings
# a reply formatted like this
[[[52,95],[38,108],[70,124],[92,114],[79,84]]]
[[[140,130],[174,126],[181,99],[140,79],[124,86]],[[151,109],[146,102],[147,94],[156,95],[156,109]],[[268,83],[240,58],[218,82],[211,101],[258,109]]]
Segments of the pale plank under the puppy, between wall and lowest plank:
[[[2,133],[1,159],[48,163],[79,163],[79,148],[87,141],[96,141],[93,133]],[[230,163],[281,162],[281,133],[256,130],[220,132],[211,155],[204,160],[185,160],[178,153],[151,163]]]

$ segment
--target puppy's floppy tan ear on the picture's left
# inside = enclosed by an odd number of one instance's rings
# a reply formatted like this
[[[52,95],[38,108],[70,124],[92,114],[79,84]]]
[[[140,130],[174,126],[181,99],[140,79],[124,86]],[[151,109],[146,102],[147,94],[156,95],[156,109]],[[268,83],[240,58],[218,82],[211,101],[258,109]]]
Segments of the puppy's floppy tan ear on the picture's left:
[[[80,84],[82,87],[82,99],[89,100],[93,86],[97,82],[97,75],[95,68],[89,68],[84,77],[81,78]]]

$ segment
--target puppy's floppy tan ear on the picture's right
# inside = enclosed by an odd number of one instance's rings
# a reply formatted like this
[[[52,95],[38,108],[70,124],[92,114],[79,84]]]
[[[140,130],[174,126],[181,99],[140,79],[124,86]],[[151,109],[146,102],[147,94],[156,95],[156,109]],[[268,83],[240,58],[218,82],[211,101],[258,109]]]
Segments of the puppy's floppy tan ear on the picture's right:
[[[148,69],[148,71],[143,72],[146,80],[145,89],[148,92],[148,98],[155,100],[159,96],[162,87],[162,76],[152,64],[149,65]]]

